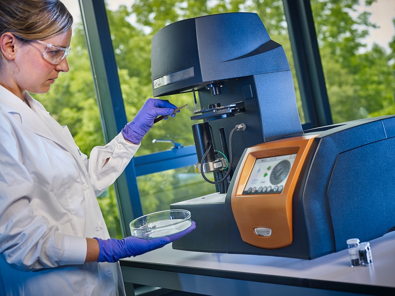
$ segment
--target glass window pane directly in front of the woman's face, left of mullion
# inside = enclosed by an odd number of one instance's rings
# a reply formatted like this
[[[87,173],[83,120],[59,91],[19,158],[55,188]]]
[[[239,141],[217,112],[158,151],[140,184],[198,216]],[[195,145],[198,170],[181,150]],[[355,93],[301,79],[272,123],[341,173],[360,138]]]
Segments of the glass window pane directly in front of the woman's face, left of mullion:
[[[73,15],[71,52],[67,57],[70,71],[60,73],[46,94],[32,94],[62,126],[68,126],[81,152],[88,155],[94,146],[105,144],[100,113],[90,69],[78,0],[62,1]],[[113,186],[98,197],[110,236],[122,237]]]

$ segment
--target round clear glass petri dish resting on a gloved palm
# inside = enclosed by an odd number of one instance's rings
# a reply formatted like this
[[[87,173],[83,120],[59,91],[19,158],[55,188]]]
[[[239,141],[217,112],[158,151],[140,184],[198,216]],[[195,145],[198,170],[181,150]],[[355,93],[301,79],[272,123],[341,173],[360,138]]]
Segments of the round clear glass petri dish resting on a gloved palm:
[[[192,225],[187,210],[167,210],[141,216],[130,222],[130,232],[136,238],[159,238],[178,233]]]

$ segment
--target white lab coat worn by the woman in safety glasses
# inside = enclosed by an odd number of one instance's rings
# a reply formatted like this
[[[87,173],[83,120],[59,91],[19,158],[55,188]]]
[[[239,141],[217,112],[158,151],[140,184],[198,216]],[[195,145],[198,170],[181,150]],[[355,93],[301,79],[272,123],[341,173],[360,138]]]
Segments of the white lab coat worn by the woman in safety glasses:
[[[0,86],[0,295],[122,295],[119,263],[84,264],[85,237],[109,238],[96,197],[139,146],[119,134],[88,160],[26,99]]]

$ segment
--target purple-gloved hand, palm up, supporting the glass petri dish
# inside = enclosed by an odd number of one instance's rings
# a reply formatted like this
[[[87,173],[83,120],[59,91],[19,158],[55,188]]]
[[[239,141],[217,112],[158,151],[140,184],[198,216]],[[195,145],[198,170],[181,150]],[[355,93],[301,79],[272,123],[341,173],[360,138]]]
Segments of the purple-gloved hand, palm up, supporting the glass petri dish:
[[[188,234],[196,228],[195,221],[192,221],[192,225],[176,234],[164,236],[161,238],[135,238],[128,236],[123,240],[116,240],[110,238],[109,240],[102,240],[95,238],[99,242],[99,259],[98,262],[117,262],[119,259],[137,256],[144,254],[154,249],[159,249],[166,244],[178,240],[182,236]]]

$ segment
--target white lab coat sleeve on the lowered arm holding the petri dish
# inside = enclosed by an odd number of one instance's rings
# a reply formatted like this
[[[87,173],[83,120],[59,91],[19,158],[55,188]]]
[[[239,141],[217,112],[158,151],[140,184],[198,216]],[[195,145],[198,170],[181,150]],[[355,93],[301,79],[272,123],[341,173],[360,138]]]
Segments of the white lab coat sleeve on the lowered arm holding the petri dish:
[[[19,161],[17,137],[0,116],[0,255],[19,270],[82,264],[85,238],[58,232],[30,206],[33,180]]]

